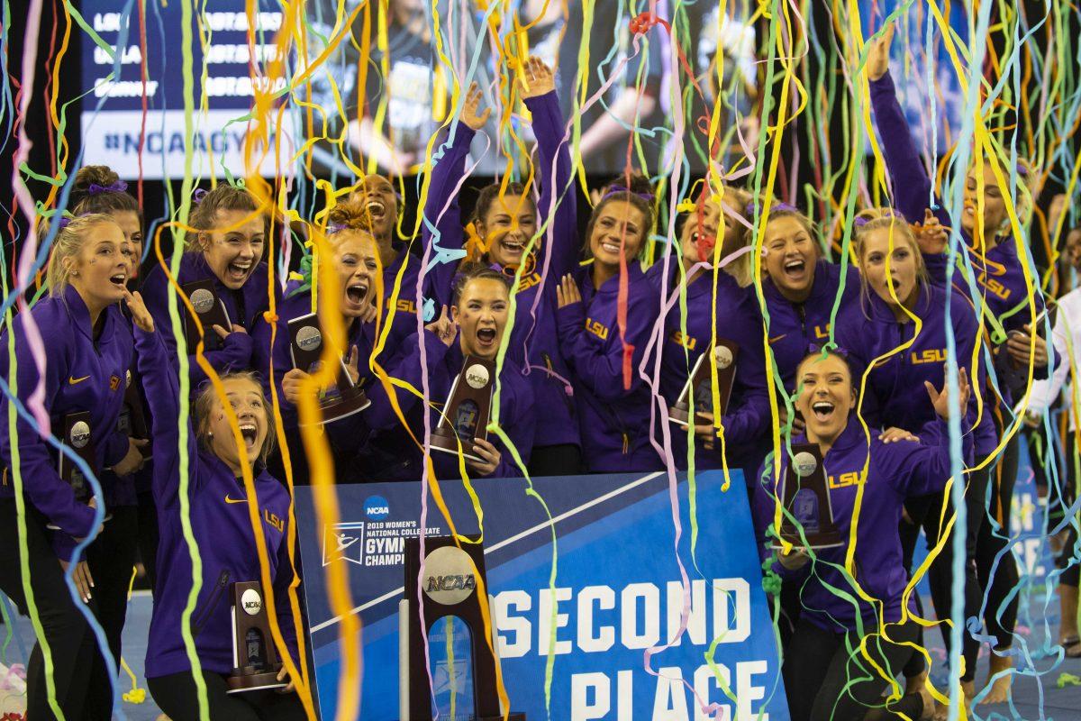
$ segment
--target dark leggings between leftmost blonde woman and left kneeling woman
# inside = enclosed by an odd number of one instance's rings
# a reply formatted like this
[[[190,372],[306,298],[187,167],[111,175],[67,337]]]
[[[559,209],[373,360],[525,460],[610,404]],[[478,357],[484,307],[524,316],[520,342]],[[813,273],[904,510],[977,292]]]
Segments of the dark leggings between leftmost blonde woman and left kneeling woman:
[[[134,506],[118,506],[110,508],[109,512],[112,518],[86,548],[86,564],[94,579],[94,615],[105,630],[119,673],[120,637],[128,615],[128,587],[135,565],[138,510]],[[108,666],[96,646],[93,655],[82,718],[109,721],[112,718],[112,687],[117,679],[109,678]]]

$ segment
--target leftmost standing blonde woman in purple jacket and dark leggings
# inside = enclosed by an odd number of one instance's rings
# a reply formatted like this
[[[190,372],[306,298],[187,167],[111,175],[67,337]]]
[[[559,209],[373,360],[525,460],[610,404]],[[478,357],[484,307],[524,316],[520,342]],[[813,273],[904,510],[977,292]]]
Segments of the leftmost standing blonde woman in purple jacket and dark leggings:
[[[117,476],[128,476],[143,460],[137,445],[118,428],[124,396],[120,384],[133,360],[130,325],[118,305],[126,293],[123,284],[130,264],[130,245],[110,216],[88,214],[68,221],[56,233],[49,259],[49,295],[14,316],[0,334],[0,342],[5,348],[10,343],[15,357],[12,363],[9,353],[2,353],[0,376],[12,388],[17,385],[17,398],[27,406],[38,388],[44,390],[38,402],[43,402],[52,418],[52,432],[69,451],[83,449],[83,459],[95,475],[111,468]],[[30,318],[37,325],[39,352],[46,359],[41,372],[29,335]],[[91,718],[92,710],[101,710],[99,696],[107,697],[106,710],[111,708],[112,696],[107,675],[97,681],[105,684],[104,692],[91,686],[96,666],[92,659],[99,653],[63,573],[76,540],[102,533],[95,508],[103,499],[92,496],[89,481],[80,482],[70,470],[70,458],[64,464],[68,472],[57,471],[56,452],[36,426],[15,416],[9,393],[0,399],[0,548],[5,549],[0,555],[0,590],[24,614],[28,601],[36,604],[43,639],[52,651],[52,685],[61,709],[67,718]],[[18,418],[14,427],[9,418]],[[18,539],[22,513],[16,510],[15,484],[9,480],[16,460],[25,502],[25,546]],[[105,485],[107,479],[98,478]],[[25,557],[19,550],[24,547]],[[90,548],[96,555],[101,547]],[[25,579],[23,562],[30,574]],[[95,569],[103,570],[96,563]],[[130,578],[131,566],[124,571]],[[86,562],[72,569],[72,575],[81,601],[93,599],[96,606]],[[24,593],[24,580],[32,589],[32,599]],[[31,718],[53,718],[51,695],[42,651],[36,649],[28,669]]]

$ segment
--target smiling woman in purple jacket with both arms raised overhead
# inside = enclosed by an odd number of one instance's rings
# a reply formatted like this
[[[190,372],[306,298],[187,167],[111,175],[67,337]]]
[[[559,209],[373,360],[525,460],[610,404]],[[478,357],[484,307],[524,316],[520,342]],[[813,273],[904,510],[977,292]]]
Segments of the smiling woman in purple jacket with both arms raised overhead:
[[[483,187],[469,218],[471,239],[465,242],[455,190],[465,174],[470,143],[489,116],[483,93],[475,85],[466,95],[453,135],[448,131],[441,138],[446,147],[431,170],[424,212],[438,228],[441,248],[465,248],[467,263],[482,262],[517,282],[507,355],[529,366],[537,405],[546,409],[546,420],[536,428],[530,472],[562,476],[582,469],[577,412],[555,318],[556,286],[577,261],[577,209],[574,193],[566,191],[573,164],[570,143],[562,139],[564,123],[553,69],[531,57],[523,75],[526,82],[521,93],[536,136],[533,173],[539,201],[534,201],[533,187],[520,183]],[[538,229],[543,230],[538,233]],[[441,302],[449,303],[450,283],[441,282],[439,288]]]

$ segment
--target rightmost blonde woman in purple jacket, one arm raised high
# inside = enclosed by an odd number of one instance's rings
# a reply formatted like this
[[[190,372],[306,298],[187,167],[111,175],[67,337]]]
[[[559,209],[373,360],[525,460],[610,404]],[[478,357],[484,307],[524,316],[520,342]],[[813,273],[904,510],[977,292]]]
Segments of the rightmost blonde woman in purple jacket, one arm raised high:
[[[1017,226],[1025,227],[1026,216],[1036,200],[1033,188],[1039,179],[1038,173],[1024,158],[1010,158],[1007,163],[1002,163],[999,168],[999,173],[1006,179],[1006,183],[1000,184],[995,169],[999,161],[992,161],[992,158],[985,155],[984,148],[976,147],[964,179],[960,217],[950,217],[947,210],[949,200],[944,202],[936,184],[929,176],[912,141],[905,111],[897,101],[896,88],[890,74],[890,45],[894,30],[895,25],[892,23],[883,28],[881,36],[870,43],[867,59],[875,123],[882,138],[886,170],[895,193],[894,203],[909,221],[922,221],[926,228],[939,230],[920,233],[920,251],[932,283],[943,289],[951,285],[952,292],[972,297],[973,291],[970,290],[964,273],[965,266],[971,265],[975,281],[972,288],[975,289],[976,296],[973,305],[980,308],[974,320],[984,326],[996,344],[992,352],[998,382],[982,390],[989,408],[998,401],[1003,409],[1002,412],[987,414],[988,420],[993,419],[999,425],[995,429],[996,437],[1009,438],[1003,453],[993,464],[985,464],[984,460],[997,450],[995,439],[985,439],[977,448],[977,465],[984,466],[983,473],[990,475],[995,482],[990,483],[990,505],[985,507],[986,496],[980,486],[986,483],[980,483],[980,473],[975,475],[974,488],[970,488],[969,493],[978,498],[978,503],[971,502],[972,520],[967,528],[969,556],[974,558],[978,568],[978,573],[970,580],[976,583],[983,579],[987,587],[986,601],[982,601],[986,609],[984,618],[988,633],[997,639],[996,652],[990,656],[990,689],[980,695],[984,703],[996,704],[1009,698],[1012,680],[1009,669],[1013,664],[1013,655],[1009,651],[1014,636],[1015,613],[1011,609],[1016,609],[1017,604],[1013,592],[1017,583],[1017,570],[1013,556],[1009,552],[1009,540],[1005,538],[1009,534],[993,530],[996,525],[1001,525],[1003,518],[1009,526],[1009,511],[1004,516],[999,511],[992,523],[988,509],[1009,509],[1013,505],[1013,485],[1017,478],[1019,453],[1017,444],[1020,437],[1019,433],[1006,433],[1009,422],[1000,422],[998,418],[1010,415],[1009,409],[1027,396],[1028,385],[1032,379],[1047,377],[1046,342],[1041,337],[1041,332],[1045,336],[1050,330],[1043,320],[1043,294],[1029,290],[1025,268],[1029,259],[1018,250],[1018,240],[1024,242],[1026,239],[1014,237],[1006,199],[1013,195]],[[1007,151],[1007,156],[1010,155]],[[962,255],[955,256],[953,275],[949,277],[947,270],[951,252],[947,229],[955,226],[963,241],[958,244],[958,251]],[[973,310],[969,310],[969,313],[975,315]],[[985,432],[990,431],[988,428]],[[948,572],[944,570],[943,573]],[[945,578],[942,583],[952,585],[950,578]],[[980,588],[975,593],[979,598],[984,596]],[[1004,609],[1004,612],[999,614],[999,609]],[[967,663],[961,680],[965,697],[973,698],[978,691],[973,677],[979,645],[971,633],[965,632],[964,637]]]

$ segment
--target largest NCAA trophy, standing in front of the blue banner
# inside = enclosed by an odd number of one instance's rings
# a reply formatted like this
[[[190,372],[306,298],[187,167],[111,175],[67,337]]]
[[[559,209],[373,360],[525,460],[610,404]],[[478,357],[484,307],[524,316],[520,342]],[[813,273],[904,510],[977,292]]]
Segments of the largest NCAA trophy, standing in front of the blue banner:
[[[476,540],[476,538],[471,538]],[[424,577],[421,575],[421,539],[405,539],[405,596],[398,603],[398,707],[401,721],[431,721],[432,690],[425,666],[425,638],[440,618],[455,616],[469,629],[470,658],[472,659],[472,715],[475,721],[525,721],[525,715],[504,715],[495,683],[498,659],[494,650],[498,644],[495,622],[492,636],[485,633],[481,604],[488,596],[477,592],[476,573],[484,580],[484,548],[479,543],[458,546],[449,536],[425,538]],[[419,589],[417,585],[419,583]],[[421,607],[416,607],[421,590]],[[424,624],[422,633],[421,624]]]

